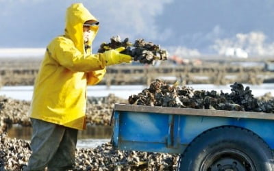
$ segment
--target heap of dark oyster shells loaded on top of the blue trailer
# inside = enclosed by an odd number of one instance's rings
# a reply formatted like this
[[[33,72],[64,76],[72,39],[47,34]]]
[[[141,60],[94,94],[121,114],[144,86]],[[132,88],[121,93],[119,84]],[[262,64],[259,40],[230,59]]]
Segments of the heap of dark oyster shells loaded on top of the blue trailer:
[[[149,88],[139,94],[129,96],[129,104],[151,105],[162,107],[184,107],[195,109],[218,109],[233,111],[259,111],[274,113],[274,99],[267,101],[254,98],[252,91],[241,83],[230,86],[231,92],[216,92],[193,90],[192,88],[176,84],[170,86],[159,79],[153,81]]]

